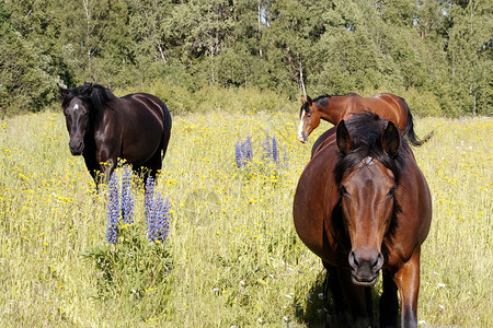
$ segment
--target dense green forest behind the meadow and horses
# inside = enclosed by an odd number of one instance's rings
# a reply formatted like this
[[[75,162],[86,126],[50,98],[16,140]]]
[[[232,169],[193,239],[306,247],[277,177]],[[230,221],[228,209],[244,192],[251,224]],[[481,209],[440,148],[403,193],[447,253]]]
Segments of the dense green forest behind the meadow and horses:
[[[0,0],[0,118],[83,81],[175,114],[286,109],[305,86],[491,116],[492,48],[489,0]]]

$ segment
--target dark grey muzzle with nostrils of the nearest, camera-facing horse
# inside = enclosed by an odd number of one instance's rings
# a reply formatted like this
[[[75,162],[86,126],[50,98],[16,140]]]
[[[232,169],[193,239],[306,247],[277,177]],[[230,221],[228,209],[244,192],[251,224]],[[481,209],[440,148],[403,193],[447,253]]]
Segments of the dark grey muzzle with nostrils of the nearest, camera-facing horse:
[[[372,286],[378,280],[378,274],[383,266],[383,256],[380,251],[349,253],[351,276],[354,284]]]

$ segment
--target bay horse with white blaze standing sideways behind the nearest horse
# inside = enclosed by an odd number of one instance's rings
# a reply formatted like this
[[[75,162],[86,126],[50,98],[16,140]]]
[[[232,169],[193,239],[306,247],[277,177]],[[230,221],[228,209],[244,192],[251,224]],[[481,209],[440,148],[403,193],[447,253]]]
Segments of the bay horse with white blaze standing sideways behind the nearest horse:
[[[362,97],[356,93],[346,95],[321,95],[316,99],[301,97],[298,140],[308,141],[310,133],[320,125],[320,119],[336,126],[341,120],[351,118],[355,113],[370,110],[381,118],[392,121],[408,138],[412,145],[419,147],[432,134],[419,140],[414,132],[413,116],[405,101],[391,93],[379,93],[371,97]]]

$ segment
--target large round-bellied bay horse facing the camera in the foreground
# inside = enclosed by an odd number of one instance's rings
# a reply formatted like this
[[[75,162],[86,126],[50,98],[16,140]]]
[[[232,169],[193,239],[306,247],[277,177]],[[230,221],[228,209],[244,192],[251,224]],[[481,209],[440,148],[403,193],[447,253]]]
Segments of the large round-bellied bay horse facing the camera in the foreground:
[[[294,199],[300,239],[328,269],[335,311],[374,325],[370,286],[382,271],[380,326],[417,326],[421,245],[432,200],[406,140],[391,121],[355,114],[320,137]]]

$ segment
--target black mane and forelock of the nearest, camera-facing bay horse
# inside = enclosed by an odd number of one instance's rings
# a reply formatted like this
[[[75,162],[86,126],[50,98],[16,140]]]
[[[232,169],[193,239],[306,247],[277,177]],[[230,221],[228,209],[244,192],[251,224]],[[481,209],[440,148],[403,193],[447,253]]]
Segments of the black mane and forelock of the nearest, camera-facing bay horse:
[[[377,114],[363,112],[353,115],[346,122],[346,128],[353,139],[353,149],[347,153],[340,153],[335,163],[334,177],[337,186],[347,172],[353,171],[362,161],[368,156],[380,162],[389,168],[399,185],[402,171],[406,166],[405,145],[406,141],[399,134],[399,150],[394,156],[390,156],[382,150],[380,138],[387,128],[388,120],[381,119]]]

